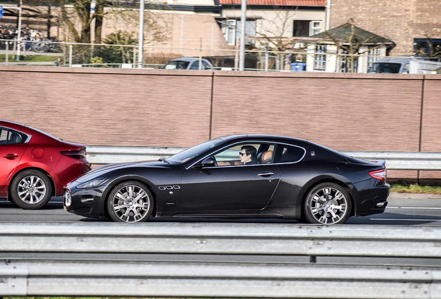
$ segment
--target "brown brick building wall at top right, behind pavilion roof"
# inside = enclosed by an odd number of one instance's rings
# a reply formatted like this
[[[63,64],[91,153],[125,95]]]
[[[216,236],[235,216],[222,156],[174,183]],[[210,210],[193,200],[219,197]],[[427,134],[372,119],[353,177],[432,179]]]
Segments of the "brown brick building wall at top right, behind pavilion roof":
[[[391,55],[410,55],[413,39],[441,38],[441,1],[439,0],[332,0],[330,27],[347,22],[382,37],[397,46]]]

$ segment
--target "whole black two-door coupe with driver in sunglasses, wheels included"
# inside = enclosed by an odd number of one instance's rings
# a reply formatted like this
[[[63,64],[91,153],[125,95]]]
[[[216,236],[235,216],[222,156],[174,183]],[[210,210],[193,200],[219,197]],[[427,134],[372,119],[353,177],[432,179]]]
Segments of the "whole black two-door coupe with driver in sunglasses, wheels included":
[[[342,224],[383,212],[389,188],[385,161],[296,138],[234,135],[159,161],[97,168],[67,185],[64,208],[124,222],[153,215]]]

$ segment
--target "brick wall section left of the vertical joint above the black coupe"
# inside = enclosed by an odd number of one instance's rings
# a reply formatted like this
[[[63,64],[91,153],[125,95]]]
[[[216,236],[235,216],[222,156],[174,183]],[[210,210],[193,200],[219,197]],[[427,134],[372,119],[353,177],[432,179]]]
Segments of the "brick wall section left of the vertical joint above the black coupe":
[[[0,118],[89,145],[209,139],[211,72],[0,66]]]

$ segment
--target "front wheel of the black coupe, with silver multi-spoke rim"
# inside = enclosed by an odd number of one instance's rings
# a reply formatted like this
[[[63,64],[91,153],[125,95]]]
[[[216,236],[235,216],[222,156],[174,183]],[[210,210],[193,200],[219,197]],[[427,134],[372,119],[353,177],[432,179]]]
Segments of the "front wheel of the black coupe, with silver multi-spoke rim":
[[[107,212],[113,221],[145,222],[153,212],[153,195],[137,181],[120,183],[107,197]]]

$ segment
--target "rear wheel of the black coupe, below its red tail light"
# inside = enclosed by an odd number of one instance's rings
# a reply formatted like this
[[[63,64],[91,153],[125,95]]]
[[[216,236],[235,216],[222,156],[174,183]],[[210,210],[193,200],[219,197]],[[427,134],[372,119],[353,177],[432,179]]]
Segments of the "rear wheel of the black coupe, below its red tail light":
[[[304,216],[311,224],[344,224],[351,210],[349,194],[335,183],[316,185],[304,201]]]

